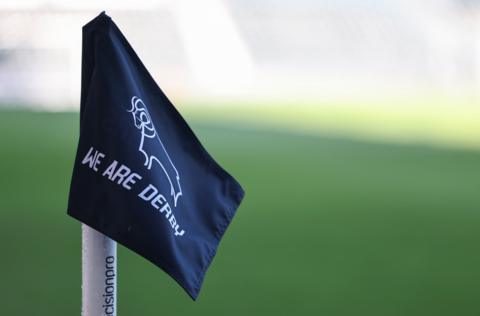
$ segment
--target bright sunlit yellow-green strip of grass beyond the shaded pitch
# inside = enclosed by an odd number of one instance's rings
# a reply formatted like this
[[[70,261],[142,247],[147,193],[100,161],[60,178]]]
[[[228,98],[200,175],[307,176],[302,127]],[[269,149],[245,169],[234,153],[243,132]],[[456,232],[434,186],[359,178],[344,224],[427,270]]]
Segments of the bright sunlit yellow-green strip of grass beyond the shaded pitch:
[[[383,97],[288,103],[208,103],[187,106],[212,117],[304,134],[480,149],[480,97]]]

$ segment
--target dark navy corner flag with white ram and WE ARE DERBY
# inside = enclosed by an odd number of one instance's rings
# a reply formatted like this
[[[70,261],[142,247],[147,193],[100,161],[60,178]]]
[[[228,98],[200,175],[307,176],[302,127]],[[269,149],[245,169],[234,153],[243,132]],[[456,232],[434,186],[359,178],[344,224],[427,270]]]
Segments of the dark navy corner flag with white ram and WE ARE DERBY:
[[[196,299],[243,189],[104,12],[83,27],[81,84],[68,214],[145,257]]]

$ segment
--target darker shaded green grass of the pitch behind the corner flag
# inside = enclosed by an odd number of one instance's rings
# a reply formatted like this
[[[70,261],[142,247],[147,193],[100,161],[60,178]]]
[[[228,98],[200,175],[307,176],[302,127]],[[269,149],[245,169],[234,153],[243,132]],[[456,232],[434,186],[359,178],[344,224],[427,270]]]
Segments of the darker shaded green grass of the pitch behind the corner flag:
[[[478,315],[480,152],[190,119],[247,195],[197,302],[119,247],[119,315]],[[78,315],[77,114],[0,112],[0,314]]]

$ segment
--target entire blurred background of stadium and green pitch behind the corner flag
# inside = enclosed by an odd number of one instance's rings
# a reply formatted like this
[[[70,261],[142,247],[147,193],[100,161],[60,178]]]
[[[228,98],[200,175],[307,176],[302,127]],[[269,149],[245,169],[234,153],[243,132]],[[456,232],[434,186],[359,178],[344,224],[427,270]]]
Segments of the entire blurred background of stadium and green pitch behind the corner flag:
[[[247,191],[196,303],[120,247],[120,315],[480,314],[478,0],[0,0],[0,314],[79,313],[102,10]]]

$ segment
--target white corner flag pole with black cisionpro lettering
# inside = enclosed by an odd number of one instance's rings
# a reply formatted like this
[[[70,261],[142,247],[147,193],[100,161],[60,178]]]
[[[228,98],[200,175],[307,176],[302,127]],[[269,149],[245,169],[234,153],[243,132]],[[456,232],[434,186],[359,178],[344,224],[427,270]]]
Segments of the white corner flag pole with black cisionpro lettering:
[[[117,314],[117,243],[82,224],[82,316]]]

